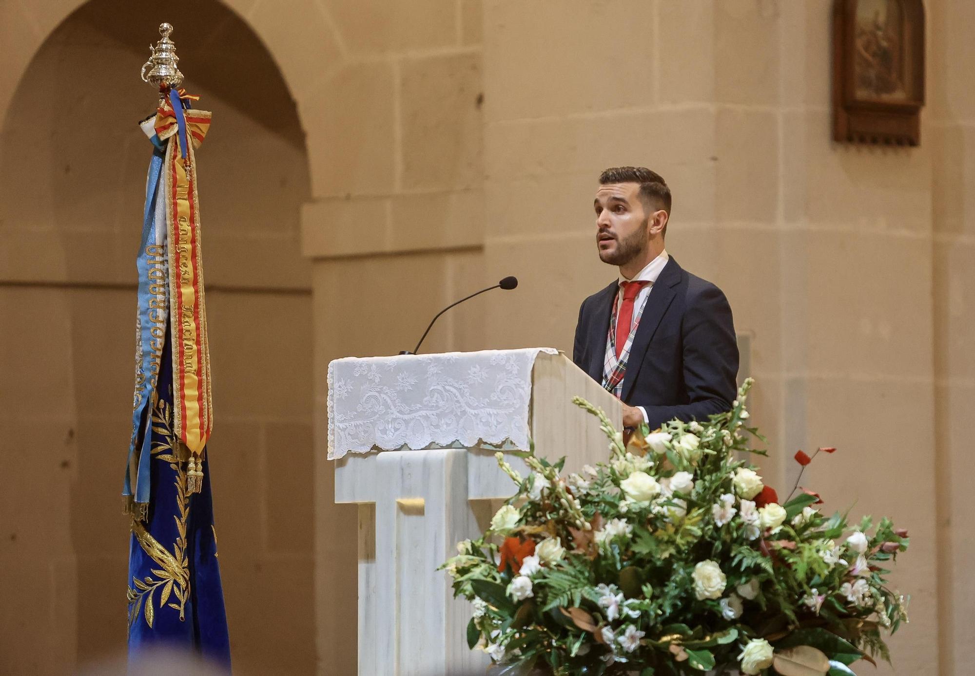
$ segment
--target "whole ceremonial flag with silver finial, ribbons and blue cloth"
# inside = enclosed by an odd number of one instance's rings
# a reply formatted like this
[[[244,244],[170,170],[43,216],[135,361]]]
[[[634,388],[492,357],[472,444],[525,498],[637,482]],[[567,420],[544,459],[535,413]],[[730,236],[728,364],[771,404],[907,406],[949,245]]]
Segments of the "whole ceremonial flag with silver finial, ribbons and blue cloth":
[[[229,670],[206,454],[213,410],[194,155],[211,114],[176,89],[182,74],[172,30],[163,24],[146,64],[160,104],[140,124],[153,153],[137,258],[136,393],[123,491],[132,518],[129,656],[137,660],[147,648],[189,651]]]

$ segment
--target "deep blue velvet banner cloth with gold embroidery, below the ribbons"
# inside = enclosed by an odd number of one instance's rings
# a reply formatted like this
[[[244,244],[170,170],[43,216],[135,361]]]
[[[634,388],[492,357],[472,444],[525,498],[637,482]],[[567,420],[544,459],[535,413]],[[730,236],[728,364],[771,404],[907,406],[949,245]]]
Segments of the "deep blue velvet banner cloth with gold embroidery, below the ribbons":
[[[173,429],[169,337],[150,414],[151,425],[143,426],[151,434],[148,514],[145,521],[133,518],[129,552],[129,659],[151,658],[162,648],[195,653],[229,672],[210,469],[204,468],[203,490],[190,494],[188,456]]]

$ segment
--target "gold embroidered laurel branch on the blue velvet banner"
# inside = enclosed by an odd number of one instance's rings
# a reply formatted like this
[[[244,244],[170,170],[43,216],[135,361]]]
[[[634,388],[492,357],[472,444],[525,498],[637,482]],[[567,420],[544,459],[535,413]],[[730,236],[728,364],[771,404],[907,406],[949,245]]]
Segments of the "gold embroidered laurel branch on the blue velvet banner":
[[[186,557],[186,521],[189,518],[189,495],[186,491],[186,470],[183,468],[184,460],[180,459],[179,442],[173,433],[172,410],[170,405],[160,400],[153,394],[152,401],[152,432],[159,434],[152,441],[152,455],[156,460],[169,463],[170,469],[176,471],[176,506],[179,507],[179,515],[174,515],[176,519],[176,532],[178,537],[173,545],[173,553],[170,553],[163,545],[160,545],[155,538],[149,535],[137,519],[132,521],[132,532],[136,536],[138,544],[148,556],[155,561],[158,569],[152,569],[152,575],[145,576],[142,580],[134,577],[132,582],[135,588],[129,587],[126,596],[129,599],[129,627],[132,628],[139,616],[139,611],[144,609],[143,616],[149,628],[156,617],[155,607],[153,606],[153,596],[156,589],[159,592],[159,608],[167,606],[170,596],[173,595],[178,603],[170,602],[169,608],[179,611],[179,620],[185,620],[186,599],[189,597],[189,560]],[[178,454],[178,455],[177,455]]]

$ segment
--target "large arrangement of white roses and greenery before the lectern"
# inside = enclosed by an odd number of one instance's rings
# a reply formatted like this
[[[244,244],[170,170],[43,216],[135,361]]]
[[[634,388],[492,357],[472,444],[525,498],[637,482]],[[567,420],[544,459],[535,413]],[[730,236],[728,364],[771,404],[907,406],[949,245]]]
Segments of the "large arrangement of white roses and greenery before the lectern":
[[[848,676],[889,659],[883,633],[907,615],[884,566],[907,532],[826,516],[799,481],[780,504],[742,459],[764,455],[748,443],[764,441],[746,424],[751,386],[706,423],[644,427],[627,444],[573,399],[609,438],[608,461],[580,474],[532,450],[522,477],[497,454],[518,490],[443,566],[473,604],[468,644],[496,673]],[[796,455],[803,468],[812,457]]]

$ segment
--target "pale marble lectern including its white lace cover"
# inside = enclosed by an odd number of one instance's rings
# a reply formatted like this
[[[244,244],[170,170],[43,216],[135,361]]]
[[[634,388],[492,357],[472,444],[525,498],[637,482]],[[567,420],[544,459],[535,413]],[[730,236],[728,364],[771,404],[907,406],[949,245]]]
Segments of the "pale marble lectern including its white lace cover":
[[[439,676],[483,669],[467,648],[471,608],[437,567],[514,493],[497,450],[565,471],[606,457],[587,398],[617,426],[619,400],[551,349],[348,357],[329,365],[335,502],[359,505],[359,674]],[[526,475],[524,461],[509,456]],[[491,501],[494,501],[493,504]]]

